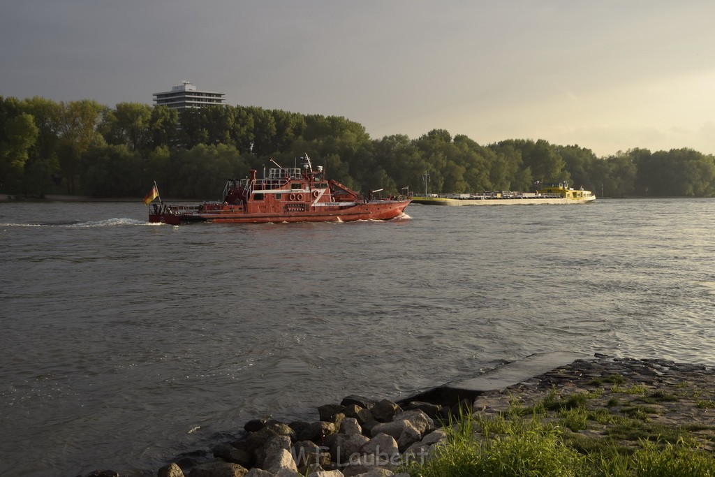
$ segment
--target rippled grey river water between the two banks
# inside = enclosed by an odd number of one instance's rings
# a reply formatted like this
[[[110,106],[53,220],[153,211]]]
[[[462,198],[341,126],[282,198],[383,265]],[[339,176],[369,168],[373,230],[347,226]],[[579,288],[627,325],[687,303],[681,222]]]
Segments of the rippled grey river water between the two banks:
[[[150,225],[0,202],[0,475],[156,470],[265,415],[532,353],[715,365],[715,200]]]

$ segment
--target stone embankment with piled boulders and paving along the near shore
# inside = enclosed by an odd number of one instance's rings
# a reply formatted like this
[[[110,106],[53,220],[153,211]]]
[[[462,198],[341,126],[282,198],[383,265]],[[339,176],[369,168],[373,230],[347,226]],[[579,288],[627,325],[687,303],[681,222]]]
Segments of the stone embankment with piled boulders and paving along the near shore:
[[[503,375],[514,376],[510,373]],[[489,389],[485,382],[501,387]],[[459,386],[445,385],[399,403],[352,395],[339,404],[320,406],[319,421],[312,423],[250,421],[245,424],[245,438],[220,443],[210,451],[178,456],[160,468],[158,476],[405,477],[408,474],[398,473],[400,464],[423,461],[435,446],[444,444],[446,434],[441,423],[460,407],[466,405],[475,413],[493,415],[514,405],[543,406],[547,401],[566,402],[579,395],[588,397],[588,408],[634,415],[651,427],[661,426],[656,428],[658,432],[691,429],[694,437],[712,450],[714,384],[715,370],[704,365],[596,355],[513,383],[503,379],[466,380]],[[556,419],[555,415],[546,418]],[[613,438],[608,425],[599,426],[586,426],[578,433],[589,439]],[[95,471],[87,477],[120,475],[157,474]]]

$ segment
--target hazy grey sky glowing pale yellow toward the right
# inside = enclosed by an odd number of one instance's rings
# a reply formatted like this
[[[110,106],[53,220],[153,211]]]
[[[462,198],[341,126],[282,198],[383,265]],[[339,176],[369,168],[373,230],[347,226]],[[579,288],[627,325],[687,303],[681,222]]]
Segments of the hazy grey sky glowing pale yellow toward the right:
[[[0,0],[0,96],[226,103],[715,154],[713,0]]]

